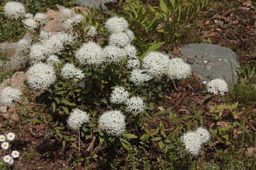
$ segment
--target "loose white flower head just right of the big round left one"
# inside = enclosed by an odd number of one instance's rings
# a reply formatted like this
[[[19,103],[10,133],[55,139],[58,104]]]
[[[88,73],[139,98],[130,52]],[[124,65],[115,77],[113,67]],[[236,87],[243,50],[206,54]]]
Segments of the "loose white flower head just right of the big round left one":
[[[74,78],[74,81],[82,80],[82,78],[85,77],[82,70],[76,68],[72,63],[66,63],[66,65],[62,67],[61,74],[65,79]]]

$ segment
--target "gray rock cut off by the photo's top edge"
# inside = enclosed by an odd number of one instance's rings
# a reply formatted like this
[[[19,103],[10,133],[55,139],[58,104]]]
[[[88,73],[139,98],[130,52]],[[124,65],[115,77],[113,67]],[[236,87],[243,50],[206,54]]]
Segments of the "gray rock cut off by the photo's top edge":
[[[106,10],[106,6],[104,4],[108,2],[117,2],[117,0],[75,0],[82,6],[90,6],[93,8],[100,9],[102,8],[103,10]]]

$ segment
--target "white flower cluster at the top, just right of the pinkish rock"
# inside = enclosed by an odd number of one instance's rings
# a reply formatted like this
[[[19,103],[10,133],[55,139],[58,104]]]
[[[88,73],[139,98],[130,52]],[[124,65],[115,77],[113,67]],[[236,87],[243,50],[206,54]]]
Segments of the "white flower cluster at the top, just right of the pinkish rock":
[[[82,14],[75,14],[68,8],[63,8],[61,10],[61,20],[67,30],[73,29],[73,26],[76,26],[79,22],[82,22],[82,19]]]

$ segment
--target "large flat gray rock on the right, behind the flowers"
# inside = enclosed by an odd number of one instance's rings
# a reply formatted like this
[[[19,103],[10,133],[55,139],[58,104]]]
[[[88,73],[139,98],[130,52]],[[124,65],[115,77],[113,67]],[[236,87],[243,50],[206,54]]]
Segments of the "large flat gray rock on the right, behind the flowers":
[[[240,65],[237,54],[231,49],[205,43],[192,43],[178,49],[203,83],[221,78],[232,87],[238,82],[237,71]]]

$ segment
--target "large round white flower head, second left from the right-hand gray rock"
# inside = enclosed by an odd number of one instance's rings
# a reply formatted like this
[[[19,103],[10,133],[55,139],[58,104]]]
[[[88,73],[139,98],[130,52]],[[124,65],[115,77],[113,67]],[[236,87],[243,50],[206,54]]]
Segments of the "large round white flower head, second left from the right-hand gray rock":
[[[148,53],[142,60],[142,67],[151,77],[160,78],[166,73],[169,57],[160,52]]]

